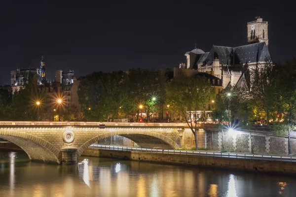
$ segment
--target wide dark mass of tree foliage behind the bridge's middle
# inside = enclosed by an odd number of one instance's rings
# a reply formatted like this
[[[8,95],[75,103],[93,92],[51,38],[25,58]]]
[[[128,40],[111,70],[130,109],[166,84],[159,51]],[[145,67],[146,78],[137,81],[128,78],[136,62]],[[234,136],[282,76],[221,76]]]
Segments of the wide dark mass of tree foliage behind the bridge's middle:
[[[165,83],[164,75],[148,69],[93,72],[80,83],[79,103],[84,118],[90,121],[135,117],[142,104],[141,112],[148,114],[148,121],[164,103]]]

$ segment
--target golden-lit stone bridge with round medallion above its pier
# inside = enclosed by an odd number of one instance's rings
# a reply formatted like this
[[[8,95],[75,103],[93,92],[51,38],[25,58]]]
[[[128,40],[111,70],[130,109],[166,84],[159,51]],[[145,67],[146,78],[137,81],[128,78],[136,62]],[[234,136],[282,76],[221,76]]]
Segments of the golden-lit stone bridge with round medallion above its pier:
[[[22,148],[32,161],[76,163],[100,139],[121,135],[143,148],[194,147],[185,123],[113,122],[0,122],[0,138]],[[206,147],[206,132],[198,125],[199,147]]]

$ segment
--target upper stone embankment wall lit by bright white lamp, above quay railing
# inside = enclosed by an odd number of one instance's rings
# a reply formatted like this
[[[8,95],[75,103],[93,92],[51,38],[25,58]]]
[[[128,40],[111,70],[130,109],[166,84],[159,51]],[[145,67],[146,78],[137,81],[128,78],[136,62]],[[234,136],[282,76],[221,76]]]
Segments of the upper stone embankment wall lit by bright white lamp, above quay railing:
[[[208,148],[243,153],[288,155],[288,138],[275,136],[268,131],[207,131]],[[291,152],[296,154],[296,138],[291,137]]]

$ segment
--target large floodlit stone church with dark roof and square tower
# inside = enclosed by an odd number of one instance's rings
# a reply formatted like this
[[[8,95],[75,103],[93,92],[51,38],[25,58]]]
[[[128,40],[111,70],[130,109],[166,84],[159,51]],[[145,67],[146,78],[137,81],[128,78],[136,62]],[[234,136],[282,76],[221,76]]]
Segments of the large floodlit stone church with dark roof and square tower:
[[[247,23],[247,45],[213,46],[209,52],[194,48],[185,53],[186,64],[174,69],[174,77],[193,76],[200,72],[221,80],[222,88],[238,87],[246,83],[250,88],[249,69],[271,62],[268,51],[268,22],[256,17]]]

